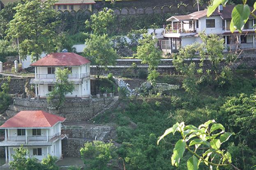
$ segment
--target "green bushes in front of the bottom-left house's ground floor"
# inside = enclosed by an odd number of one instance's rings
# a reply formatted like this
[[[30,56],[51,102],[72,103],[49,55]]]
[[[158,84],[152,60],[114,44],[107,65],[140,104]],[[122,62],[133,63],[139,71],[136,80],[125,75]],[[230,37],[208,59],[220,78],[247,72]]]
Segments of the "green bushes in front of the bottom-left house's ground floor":
[[[58,170],[59,167],[55,165],[57,158],[48,155],[40,163],[36,158],[27,156],[28,150],[21,146],[14,148],[15,154],[12,155],[13,161],[9,162],[12,170]]]

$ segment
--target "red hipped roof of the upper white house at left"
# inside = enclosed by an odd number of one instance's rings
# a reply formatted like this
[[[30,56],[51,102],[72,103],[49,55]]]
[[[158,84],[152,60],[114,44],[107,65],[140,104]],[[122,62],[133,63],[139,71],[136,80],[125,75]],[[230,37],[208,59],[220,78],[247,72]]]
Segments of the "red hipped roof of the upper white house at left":
[[[30,66],[81,66],[86,63],[90,63],[90,60],[74,52],[55,52],[46,55]]]

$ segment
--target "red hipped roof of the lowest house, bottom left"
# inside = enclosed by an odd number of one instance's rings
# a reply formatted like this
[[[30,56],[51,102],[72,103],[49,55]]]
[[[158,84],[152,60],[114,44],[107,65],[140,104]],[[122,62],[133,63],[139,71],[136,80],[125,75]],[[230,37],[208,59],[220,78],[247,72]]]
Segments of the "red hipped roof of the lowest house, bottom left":
[[[12,118],[9,118],[0,128],[10,127],[52,127],[65,118],[56,116],[44,111],[20,111]]]

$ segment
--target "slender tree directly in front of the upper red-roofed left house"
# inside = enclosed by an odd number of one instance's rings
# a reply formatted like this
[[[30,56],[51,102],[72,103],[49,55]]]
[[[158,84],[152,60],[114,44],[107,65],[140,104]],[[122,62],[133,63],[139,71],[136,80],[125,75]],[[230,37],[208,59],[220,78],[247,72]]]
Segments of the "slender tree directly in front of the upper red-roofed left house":
[[[70,73],[68,68],[57,68],[55,71],[56,82],[53,86],[53,91],[48,93],[47,102],[53,104],[55,99],[57,99],[58,102],[55,104],[57,110],[62,106],[63,102],[65,102],[65,95],[67,95],[67,93],[72,93],[74,90],[74,84],[68,80],[68,75]]]

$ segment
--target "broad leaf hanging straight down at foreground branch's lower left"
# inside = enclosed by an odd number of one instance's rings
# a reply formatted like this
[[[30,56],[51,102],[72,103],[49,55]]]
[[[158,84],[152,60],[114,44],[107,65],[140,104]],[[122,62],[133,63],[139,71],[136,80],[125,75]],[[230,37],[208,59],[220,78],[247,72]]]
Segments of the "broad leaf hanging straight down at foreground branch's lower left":
[[[180,139],[173,149],[173,155],[171,156],[172,165],[178,166],[180,163],[180,159],[182,158],[185,152],[186,143],[184,140]]]

